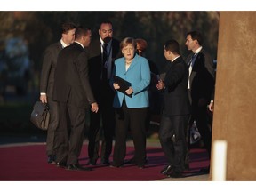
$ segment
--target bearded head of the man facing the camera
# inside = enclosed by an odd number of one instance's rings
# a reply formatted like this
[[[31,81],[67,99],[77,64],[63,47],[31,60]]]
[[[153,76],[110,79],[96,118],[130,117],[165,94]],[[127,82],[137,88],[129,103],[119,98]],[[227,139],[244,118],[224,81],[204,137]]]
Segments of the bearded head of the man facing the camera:
[[[99,35],[100,35],[100,38],[105,43],[108,43],[113,37],[112,22],[110,22],[110,21],[101,22],[100,23],[100,28],[99,28]]]

